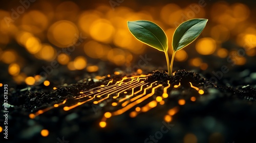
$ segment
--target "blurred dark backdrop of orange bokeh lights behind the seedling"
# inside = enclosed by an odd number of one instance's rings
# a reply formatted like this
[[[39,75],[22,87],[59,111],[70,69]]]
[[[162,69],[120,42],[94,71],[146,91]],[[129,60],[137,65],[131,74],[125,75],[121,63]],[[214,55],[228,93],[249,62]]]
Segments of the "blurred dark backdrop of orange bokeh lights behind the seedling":
[[[4,1],[1,82],[15,86],[47,81],[48,86],[54,79],[62,84],[87,74],[166,70],[164,53],[137,41],[127,29],[127,20],[141,19],[165,31],[169,57],[173,33],[181,22],[209,19],[198,39],[176,53],[175,70],[195,70],[209,78],[226,65],[253,73],[255,13],[253,1]],[[68,80],[71,77],[73,81]]]

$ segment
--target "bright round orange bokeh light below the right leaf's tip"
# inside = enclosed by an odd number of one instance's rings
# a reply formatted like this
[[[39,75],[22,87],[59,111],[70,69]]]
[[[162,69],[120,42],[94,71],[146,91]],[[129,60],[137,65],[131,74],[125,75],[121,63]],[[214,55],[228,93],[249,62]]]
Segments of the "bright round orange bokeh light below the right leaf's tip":
[[[196,50],[201,55],[210,55],[216,50],[216,42],[212,38],[201,38],[196,43]]]

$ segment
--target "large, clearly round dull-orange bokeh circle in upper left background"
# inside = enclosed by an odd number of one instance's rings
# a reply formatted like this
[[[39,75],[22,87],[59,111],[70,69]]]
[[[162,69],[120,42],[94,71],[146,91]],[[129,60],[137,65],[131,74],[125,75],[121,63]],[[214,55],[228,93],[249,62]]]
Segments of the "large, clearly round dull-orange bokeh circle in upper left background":
[[[49,28],[48,39],[58,47],[70,47],[78,40],[79,32],[76,25],[68,20],[60,20]]]

